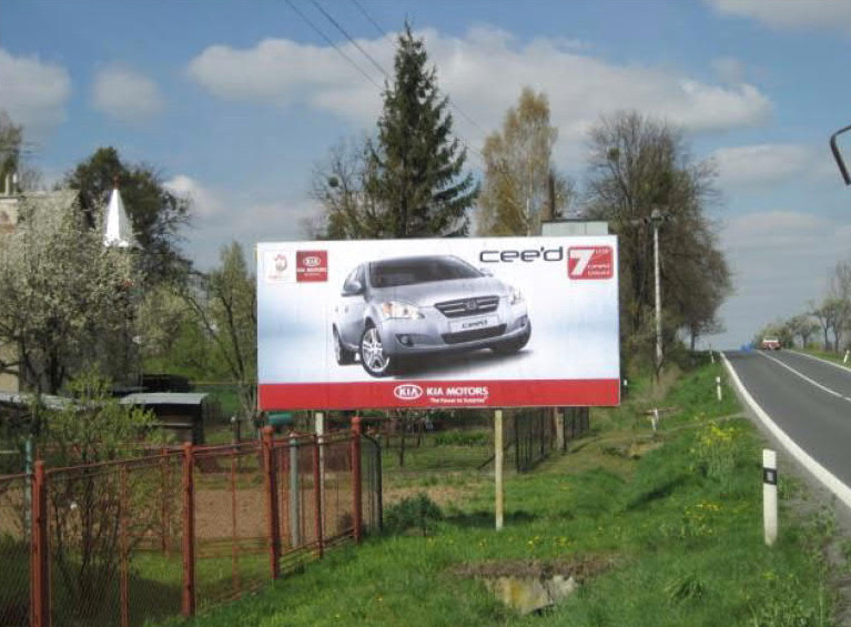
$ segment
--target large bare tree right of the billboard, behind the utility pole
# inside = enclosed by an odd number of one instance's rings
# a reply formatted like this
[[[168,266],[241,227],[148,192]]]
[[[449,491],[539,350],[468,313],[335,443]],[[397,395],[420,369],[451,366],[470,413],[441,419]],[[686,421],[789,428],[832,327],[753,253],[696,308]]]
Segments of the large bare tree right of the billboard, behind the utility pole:
[[[590,132],[589,218],[607,220],[619,235],[621,330],[638,346],[654,311],[655,209],[671,221],[660,231],[666,330],[696,337],[718,328],[718,307],[731,290],[718,247],[717,225],[706,215],[718,198],[711,162],[695,162],[677,128],[637,112],[602,118]]]

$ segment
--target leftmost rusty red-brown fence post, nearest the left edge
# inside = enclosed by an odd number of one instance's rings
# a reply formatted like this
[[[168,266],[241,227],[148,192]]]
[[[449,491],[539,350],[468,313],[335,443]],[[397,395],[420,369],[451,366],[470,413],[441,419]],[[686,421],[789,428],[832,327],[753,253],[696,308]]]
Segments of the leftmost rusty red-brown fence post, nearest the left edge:
[[[44,462],[36,462],[30,524],[30,625],[50,627],[50,548],[48,546],[48,479]]]

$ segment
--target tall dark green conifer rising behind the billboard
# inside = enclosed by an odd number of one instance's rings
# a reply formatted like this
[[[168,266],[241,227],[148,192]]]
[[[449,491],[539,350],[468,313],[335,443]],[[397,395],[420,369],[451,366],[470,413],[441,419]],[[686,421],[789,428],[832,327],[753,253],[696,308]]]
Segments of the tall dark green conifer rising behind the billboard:
[[[467,210],[478,193],[473,174],[463,174],[467,152],[452,136],[448,98],[427,61],[425,43],[406,23],[368,156],[366,190],[387,237],[467,235]]]

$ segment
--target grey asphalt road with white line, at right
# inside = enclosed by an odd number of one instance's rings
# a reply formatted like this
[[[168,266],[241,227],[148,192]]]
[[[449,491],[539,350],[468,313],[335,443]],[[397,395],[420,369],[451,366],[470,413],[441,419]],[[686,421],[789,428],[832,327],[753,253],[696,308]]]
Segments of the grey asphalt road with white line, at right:
[[[771,419],[851,486],[851,371],[788,351],[725,355]]]

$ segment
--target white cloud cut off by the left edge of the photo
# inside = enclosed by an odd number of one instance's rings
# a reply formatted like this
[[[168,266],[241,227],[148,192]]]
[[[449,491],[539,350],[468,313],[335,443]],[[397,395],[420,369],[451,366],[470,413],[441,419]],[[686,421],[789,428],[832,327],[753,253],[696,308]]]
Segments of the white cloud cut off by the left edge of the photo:
[[[0,49],[0,109],[29,136],[43,135],[64,122],[70,95],[71,79],[64,68]]]

